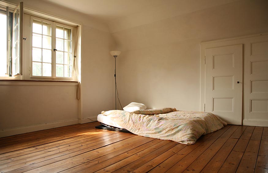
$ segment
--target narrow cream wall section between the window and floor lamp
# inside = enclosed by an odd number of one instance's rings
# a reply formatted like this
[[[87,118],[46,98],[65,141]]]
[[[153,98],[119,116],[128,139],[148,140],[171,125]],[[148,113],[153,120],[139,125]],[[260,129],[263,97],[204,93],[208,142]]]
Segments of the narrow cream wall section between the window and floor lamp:
[[[82,50],[82,114],[96,120],[103,110],[113,109],[115,42],[108,32],[84,28]]]

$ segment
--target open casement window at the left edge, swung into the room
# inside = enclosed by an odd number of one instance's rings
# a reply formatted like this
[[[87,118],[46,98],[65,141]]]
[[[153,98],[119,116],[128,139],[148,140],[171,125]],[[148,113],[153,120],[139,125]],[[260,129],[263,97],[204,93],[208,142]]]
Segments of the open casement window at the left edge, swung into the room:
[[[0,22],[0,76],[22,75],[23,2],[15,10],[0,9]]]

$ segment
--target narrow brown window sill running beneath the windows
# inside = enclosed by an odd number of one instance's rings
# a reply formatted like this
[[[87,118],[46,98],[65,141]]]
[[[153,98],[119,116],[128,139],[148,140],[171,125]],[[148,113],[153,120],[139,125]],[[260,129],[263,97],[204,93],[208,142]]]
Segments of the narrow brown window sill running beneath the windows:
[[[0,79],[0,85],[77,85],[77,81]]]

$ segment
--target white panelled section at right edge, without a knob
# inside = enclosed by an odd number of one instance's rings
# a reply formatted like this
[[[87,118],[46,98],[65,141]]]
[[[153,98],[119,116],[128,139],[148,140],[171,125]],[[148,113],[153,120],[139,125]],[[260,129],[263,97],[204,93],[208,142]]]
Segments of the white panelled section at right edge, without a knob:
[[[268,35],[250,38],[245,46],[243,124],[268,127]]]

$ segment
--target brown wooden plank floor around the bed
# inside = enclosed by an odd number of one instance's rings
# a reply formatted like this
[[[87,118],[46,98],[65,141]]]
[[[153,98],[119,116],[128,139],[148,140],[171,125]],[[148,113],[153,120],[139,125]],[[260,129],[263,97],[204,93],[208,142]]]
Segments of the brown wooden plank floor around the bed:
[[[0,171],[268,172],[268,127],[227,125],[183,145],[96,125],[0,138]]]

